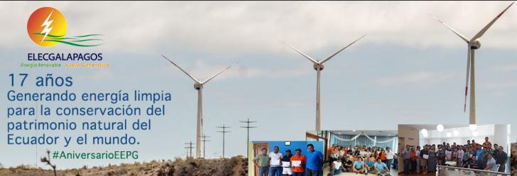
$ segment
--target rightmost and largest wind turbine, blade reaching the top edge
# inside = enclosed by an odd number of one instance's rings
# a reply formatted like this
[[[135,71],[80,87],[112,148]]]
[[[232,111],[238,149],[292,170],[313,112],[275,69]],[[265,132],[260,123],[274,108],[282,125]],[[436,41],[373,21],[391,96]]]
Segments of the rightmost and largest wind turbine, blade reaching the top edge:
[[[474,51],[481,48],[481,42],[479,38],[492,26],[499,17],[503,15],[503,13],[510,8],[510,6],[513,5],[513,2],[504,9],[504,11],[501,11],[499,15],[496,16],[490,23],[488,23],[484,28],[479,31],[476,35],[474,35],[473,38],[470,40],[466,38],[461,33],[458,33],[454,29],[452,29],[447,24],[443,23],[440,19],[436,18],[435,16],[432,16],[435,18],[438,22],[442,23],[445,27],[449,28],[450,31],[455,33],[459,36],[459,38],[462,38],[467,43],[467,79],[465,81],[465,101],[463,104],[463,111],[467,111],[467,92],[469,91],[469,78],[470,78],[470,102],[469,102],[469,124],[474,125],[476,124],[476,79],[474,77]]]

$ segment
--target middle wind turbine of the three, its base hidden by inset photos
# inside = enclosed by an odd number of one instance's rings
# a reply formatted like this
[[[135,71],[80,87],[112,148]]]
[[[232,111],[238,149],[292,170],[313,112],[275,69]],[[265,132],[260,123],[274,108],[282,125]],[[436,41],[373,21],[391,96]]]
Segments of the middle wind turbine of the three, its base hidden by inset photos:
[[[364,38],[364,36],[366,36],[366,35],[362,35],[357,40],[360,40],[361,38]],[[341,50],[338,50],[336,53],[330,55],[329,57],[325,57],[325,59],[322,59],[322,60],[315,60],[312,57],[310,57],[308,55],[305,55],[305,53],[302,53],[300,50],[296,49],[292,45],[289,45],[288,43],[284,42],[285,45],[288,45],[290,48],[293,48],[293,50],[295,50],[296,52],[300,53],[300,55],[303,55],[303,57],[307,58],[308,60],[310,60],[310,62],[312,62],[314,64],[313,67],[314,67],[314,70],[316,70],[316,73],[317,73],[317,76],[316,76],[316,131],[320,131],[320,127],[321,127],[320,75],[321,75],[321,70],[323,70],[323,68],[324,68],[323,64],[325,62],[327,62],[328,60],[332,59],[332,57],[337,55],[342,50],[344,50],[344,49],[348,48],[350,45],[356,43],[357,40],[354,40],[354,42],[348,44],[344,48],[341,48]]]

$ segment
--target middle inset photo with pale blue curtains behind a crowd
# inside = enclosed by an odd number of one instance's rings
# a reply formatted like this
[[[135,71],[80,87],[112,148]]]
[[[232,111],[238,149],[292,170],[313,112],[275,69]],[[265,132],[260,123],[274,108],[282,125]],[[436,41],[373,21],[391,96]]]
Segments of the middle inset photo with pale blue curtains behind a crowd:
[[[398,175],[397,131],[308,131],[307,141],[322,141],[322,175]]]

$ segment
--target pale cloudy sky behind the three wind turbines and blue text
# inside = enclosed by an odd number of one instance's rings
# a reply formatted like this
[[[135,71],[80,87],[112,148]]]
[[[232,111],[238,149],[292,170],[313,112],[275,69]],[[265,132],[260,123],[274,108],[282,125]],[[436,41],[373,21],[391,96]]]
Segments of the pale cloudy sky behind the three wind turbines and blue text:
[[[246,153],[240,120],[258,121],[252,141],[305,140],[315,127],[315,70],[289,43],[322,59],[361,35],[365,38],[325,63],[322,71],[322,129],[396,130],[403,124],[467,124],[463,112],[466,45],[430,14],[467,38],[474,36],[509,1],[276,1],[276,2],[0,2],[1,92],[11,89],[8,75],[70,75],[74,89],[86,91],[164,90],[173,94],[167,116],[153,130],[136,133],[136,146],[70,146],[67,150],[138,149],[136,161],[185,156],[195,141],[197,92],[192,80],[165,55],[198,79],[239,61],[203,89],[207,158]],[[28,38],[26,23],[43,6],[59,9],[67,35],[102,33],[95,48],[56,45],[41,48]],[[476,52],[477,122],[510,123],[517,94],[516,7],[511,7],[481,38]],[[109,68],[21,68],[27,53],[101,52]],[[56,88],[61,90],[61,88]],[[23,89],[45,91],[45,89]],[[8,101],[0,101],[4,107]],[[22,104],[23,105],[23,104]],[[58,106],[60,104],[52,104]],[[88,104],[85,104],[88,105]],[[90,104],[92,105],[92,104]],[[32,106],[24,104],[23,106]],[[6,114],[6,109],[1,109]],[[6,117],[4,117],[4,121]],[[101,118],[99,118],[101,119]],[[80,121],[79,119],[71,119]],[[0,126],[6,131],[6,125]],[[33,133],[33,132],[31,132]],[[73,132],[76,133],[76,132]],[[121,132],[109,134],[120,135]],[[513,133],[513,140],[517,135]],[[59,146],[6,145],[1,135],[0,163],[38,166],[46,149]],[[134,160],[55,160],[58,167],[132,163]]]

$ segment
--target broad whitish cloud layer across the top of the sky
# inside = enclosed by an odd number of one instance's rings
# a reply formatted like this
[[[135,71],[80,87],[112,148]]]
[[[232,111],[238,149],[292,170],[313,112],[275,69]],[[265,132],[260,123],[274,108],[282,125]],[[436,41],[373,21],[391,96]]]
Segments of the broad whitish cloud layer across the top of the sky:
[[[218,55],[278,53],[287,40],[305,51],[346,45],[464,47],[457,36],[428,16],[433,13],[472,37],[510,2],[3,2],[9,9],[0,46],[30,45],[25,23],[40,6],[67,18],[68,33],[103,33],[106,50],[160,53],[163,50]],[[517,9],[509,9],[483,36],[483,46],[516,48]],[[23,40],[26,38],[26,40]]]

